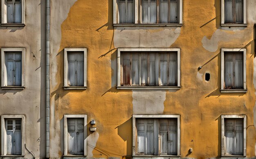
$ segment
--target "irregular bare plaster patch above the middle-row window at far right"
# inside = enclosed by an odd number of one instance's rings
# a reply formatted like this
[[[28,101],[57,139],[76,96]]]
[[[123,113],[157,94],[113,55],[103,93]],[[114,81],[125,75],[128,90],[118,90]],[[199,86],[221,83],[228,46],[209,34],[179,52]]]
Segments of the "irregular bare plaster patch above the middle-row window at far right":
[[[210,52],[216,52],[218,50],[218,43],[220,41],[229,42],[230,46],[232,46],[231,44],[237,44],[238,37],[239,41],[247,41],[247,35],[247,30],[224,31],[217,29],[211,36],[211,39],[208,39],[206,36],[204,36],[201,42],[206,50]]]

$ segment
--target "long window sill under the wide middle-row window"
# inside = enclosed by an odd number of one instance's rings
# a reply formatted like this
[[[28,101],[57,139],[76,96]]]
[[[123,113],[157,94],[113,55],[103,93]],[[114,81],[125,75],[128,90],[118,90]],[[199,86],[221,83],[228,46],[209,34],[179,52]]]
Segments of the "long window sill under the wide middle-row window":
[[[140,89],[140,90],[179,90],[180,86],[117,86],[117,89]]]

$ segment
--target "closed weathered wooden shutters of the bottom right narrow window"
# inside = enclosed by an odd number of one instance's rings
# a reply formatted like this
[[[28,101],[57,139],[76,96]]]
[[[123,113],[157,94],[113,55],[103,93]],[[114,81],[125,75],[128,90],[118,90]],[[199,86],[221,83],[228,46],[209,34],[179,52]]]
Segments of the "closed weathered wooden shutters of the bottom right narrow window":
[[[243,155],[243,119],[225,119],[226,155]]]

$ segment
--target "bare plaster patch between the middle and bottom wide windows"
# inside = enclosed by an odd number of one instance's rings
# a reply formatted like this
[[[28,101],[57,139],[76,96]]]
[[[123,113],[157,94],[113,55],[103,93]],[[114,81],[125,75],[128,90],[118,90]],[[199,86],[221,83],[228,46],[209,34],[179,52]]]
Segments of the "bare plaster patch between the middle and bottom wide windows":
[[[162,114],[165,91],[132,91],[133,114]]]

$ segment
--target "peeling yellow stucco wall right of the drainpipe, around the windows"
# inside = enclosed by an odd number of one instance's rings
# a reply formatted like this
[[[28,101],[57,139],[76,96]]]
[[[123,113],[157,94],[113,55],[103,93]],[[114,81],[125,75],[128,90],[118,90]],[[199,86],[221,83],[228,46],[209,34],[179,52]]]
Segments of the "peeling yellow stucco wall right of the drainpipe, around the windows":
[[[221,115],[247,115],[247,157],[255,158],[254,23],[247,0],[245,28],[220,26],[218,0],[184,0],[183,26],[112,25],[112,0],[52,0],[51,154],[63,155],[63,115],[87,114],[88,157],[130,158],[132,114],[179,114],[181,158],[221,155]],[[68,14],[67,14],[68,13]],[[206,16],[207,15],[207,16]],[[55,31],[57,30],[57,31]],[[180,48],[181,89],[117,90],[116,48]],[[63,90],[64,48],[87,48],[86,90]],[[247,93],[220,93],[221,48],[247,49]],[[202,66],[200,70],[198,67]],[[205,82],[205,73],[211,78]],[[54,132],[54,133],[53,133]],[[89,142],[90,141],[90,142]],[[193,148],[191,154],[189,148]],[[92,150],[93,149],[93,150]],[[92,151],[91,151],[92,150]]]

